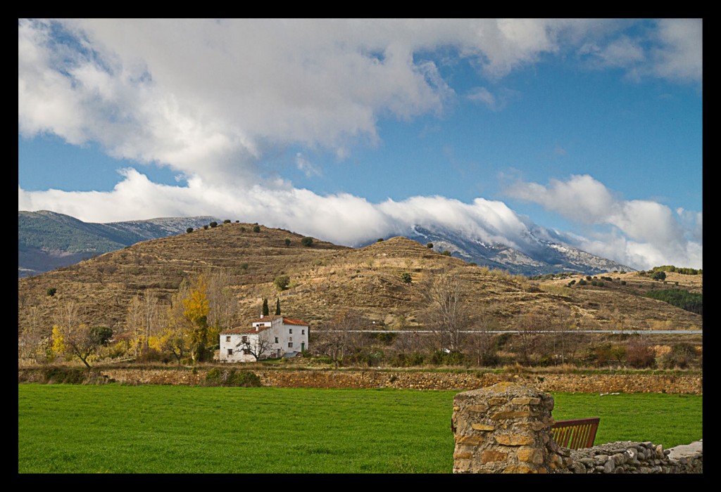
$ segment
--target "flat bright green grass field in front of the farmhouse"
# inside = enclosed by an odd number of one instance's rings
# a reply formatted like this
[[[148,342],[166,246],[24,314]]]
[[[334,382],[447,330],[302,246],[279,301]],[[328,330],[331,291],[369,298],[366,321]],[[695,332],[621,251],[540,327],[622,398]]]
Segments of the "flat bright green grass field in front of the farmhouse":
[[[451,473],[456,391],[18,385],[19,473]],[[596,444],[702,438],[702,396],[554,394]]]

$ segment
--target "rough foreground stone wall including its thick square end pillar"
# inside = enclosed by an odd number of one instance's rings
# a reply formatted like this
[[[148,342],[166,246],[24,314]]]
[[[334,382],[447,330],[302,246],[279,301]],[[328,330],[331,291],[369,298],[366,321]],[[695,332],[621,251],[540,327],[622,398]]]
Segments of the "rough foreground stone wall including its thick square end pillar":
[[[458,393],[451,429],[454,473],[702,473],[702,442],[664,450],[611,442],[582,450],[552,438],[554,399],[530,386],[498,383]]]

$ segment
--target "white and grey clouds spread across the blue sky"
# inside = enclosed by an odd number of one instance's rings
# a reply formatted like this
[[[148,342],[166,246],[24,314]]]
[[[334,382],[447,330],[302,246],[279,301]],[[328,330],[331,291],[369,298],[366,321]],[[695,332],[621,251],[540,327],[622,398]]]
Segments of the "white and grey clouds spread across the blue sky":
[[[461,97],[503,110],[487,88],[457,94],[443,63],[471,60],[488,80],[574,56],[589,70],[700,86],[700,20],[659,21],[643,39],[629,21],[578,19],[64,19],[18,24],[19,134],[96,144],[140,165],[170,168],[177,186],[140,166],[112,191],[26,191],[19,210],[49,209],[86,222],[213,215],[358,245],[412,224],[455,228],[487,242],[523,243],[539,226],[502,201],[412,196],[371,203],[298,188],[267,165],[278,147],[347,158],[381,145],[379,119],[442,116]],[[641,35],[639,35],[641,36]],[[57,42],[61,39],[63,42]],[[447,50],[445,62],[428,53]],[[306,176],[322,173],[296,156]],[[518,182],[508,196],[588,226],[555,231],[568,245],[635,268],[702,266],[702,214],[624,200],[592,176]],[[541,224],[542,225],[542,224]]]

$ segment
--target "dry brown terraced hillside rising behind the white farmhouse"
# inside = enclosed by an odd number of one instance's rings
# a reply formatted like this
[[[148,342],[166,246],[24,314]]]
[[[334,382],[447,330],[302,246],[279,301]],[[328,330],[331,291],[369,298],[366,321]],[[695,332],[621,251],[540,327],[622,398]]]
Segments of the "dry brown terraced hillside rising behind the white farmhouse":
[[[567,288],[568,279],[529,281],[442,255],[405,237],[357,249],[319,240],[304,247],[299,234],[253,228],[219,224],[19,278],[18,329],[36,324],[49,333],[53,314],[72,300],[89,323],[122,333],[129,301],[137,293],[152,291],[168,304],[184,278],[211,270],[229,273],[238,306],[234,324],[257,317],[263,298],[274,302],[278,297],[284,314],[309,322],[311,328],[322,327],[337,309],[352,307],[376,327],[421,329],[425,281],[452,270],[465,283],[464,301],[477,326],[493,320],[500,329],[517,329],[519,316],[532,314],[546,322],[562,318],[569,327],[585,329],[702,328],[702,316],[640,296],[651,285],[664,284],[637,273],[609,273],[623,276],[625,286],[614,281],[603,287]],[[402,280],[404,272],[411,274],[410,283]],[[273,285],[280,274],[291,278],[290,288],[282,293]],[[669,273],[667,286],[700,291],[700,277]],[[48,296],[48,288],[56,288],[56,294]]]

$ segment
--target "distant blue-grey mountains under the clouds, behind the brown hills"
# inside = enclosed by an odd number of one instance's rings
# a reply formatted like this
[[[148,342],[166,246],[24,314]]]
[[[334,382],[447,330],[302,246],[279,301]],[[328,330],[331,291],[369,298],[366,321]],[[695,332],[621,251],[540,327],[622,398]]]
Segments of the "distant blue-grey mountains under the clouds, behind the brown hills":
[[[198,229],[213,221],[222,222],[216,217],[198,216],[99,224],[82,222],[52,211],[19,211],[18,276],[37,275],[73,265],[94,255],[120,250],[140,241],[185,233],[188,227]],[[613,260],[544,239],[540,236],[549,234],[540,228],[526,232],[521,245],[487,243],[470,233],[419,224],[412,225],[398,235],[422,245],[432,242],[438,252],[447,250],[454,258],[492,269],[507,270],[514,275],[562,272],[594,275],[613,270],[635,271]],[[369,244],[371,242],[361,246]]]

